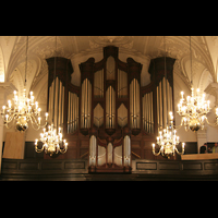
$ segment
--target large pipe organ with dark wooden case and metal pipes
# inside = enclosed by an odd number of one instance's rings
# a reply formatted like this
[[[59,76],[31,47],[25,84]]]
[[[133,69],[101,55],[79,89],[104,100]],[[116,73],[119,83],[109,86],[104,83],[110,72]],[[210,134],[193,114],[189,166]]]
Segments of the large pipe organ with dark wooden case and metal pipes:
[[[165,59],[150,60],[150,83],[142,87],[141,63],[121,61],[114,46],[102,53],[80,64],[81,86],[71,84],[70,60],[57,58],[53,80],[55,58],[47,59],[48,111],[69,142],[62,158],[88,158],[89,172],[130,172],[132,158],[154,158],[150,144],[169,123],[175,60],[166,58],[167,80]]]

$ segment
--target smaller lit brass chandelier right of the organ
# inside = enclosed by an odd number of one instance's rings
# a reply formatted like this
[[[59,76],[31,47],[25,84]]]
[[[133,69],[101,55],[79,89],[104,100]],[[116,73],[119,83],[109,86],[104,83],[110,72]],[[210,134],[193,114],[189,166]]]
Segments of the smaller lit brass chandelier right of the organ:
[[[155,156],[162,155],[168,157],[170,159],[171,156],[174,156],[175,152],[179,155],[184,154],[184,145],[185,143],[182,143],[182,152],[180,153],[177,148],[177,145],[180,143],[180,137],[177,136],[177,130],[173,128],[173,117],[170,112],[170,125],[167,129],[164,129],[159,132],[159,135],[157,136],[157,145],[159,145],[160,149],[158,153],[155,152],[155,144],[153,143],[153,154]]]

